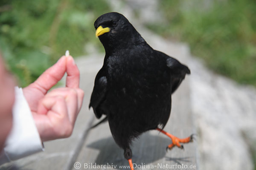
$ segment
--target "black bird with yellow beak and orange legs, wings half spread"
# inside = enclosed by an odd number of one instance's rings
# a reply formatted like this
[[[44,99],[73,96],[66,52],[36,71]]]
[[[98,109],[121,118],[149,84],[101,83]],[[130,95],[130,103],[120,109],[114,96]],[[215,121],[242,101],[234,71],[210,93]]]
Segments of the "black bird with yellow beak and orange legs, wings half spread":
[[[95,78],[89,108],[98,119],[107,116],[113,139],[124,149],[131,169],[131,142],[147,130],[169,136],[169,149],[191,142],[192,135],[179,139],[163,130],[170,116],[171,95],[190,74],[189,68],[151,48],[122,14],[103,14],[94,27],[105,58]]]

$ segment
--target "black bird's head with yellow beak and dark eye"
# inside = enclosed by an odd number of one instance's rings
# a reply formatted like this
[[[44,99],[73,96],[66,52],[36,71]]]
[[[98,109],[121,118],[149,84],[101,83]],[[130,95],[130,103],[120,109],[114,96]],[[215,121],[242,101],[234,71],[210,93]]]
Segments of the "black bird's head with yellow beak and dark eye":
[[[117,12],[101,15],[95,21],[94,27],[96,29],[96,37],[99,37],[105,50],[127,45],[127,43],[144,42],[144,39],[131,23]]]

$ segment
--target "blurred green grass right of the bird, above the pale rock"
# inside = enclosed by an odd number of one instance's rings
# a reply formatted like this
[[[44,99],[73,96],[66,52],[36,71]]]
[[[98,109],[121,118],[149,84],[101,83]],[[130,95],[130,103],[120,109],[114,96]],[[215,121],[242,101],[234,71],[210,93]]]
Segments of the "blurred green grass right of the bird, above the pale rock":
[[[255,0],[160,0],[166,21],[148,25],[189,43],[217,73],[256,86]]]

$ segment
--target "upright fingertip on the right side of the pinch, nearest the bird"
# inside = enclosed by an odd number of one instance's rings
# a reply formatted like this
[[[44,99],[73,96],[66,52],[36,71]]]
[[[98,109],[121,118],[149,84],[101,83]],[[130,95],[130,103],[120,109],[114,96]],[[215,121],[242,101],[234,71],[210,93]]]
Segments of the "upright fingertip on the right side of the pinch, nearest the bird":
[[[66,87],[79,88],[80,72],[73,57],[67,57],[67,79]]]

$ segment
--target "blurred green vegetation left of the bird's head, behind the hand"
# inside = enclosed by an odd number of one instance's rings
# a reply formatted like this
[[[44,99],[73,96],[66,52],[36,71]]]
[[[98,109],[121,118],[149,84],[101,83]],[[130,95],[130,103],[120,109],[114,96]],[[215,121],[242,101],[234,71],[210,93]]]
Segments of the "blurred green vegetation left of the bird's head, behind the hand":
[[[100,45],[93,23],[109,11],[104,0],[1,0],[0,51],[24,87],[70,50]]]

